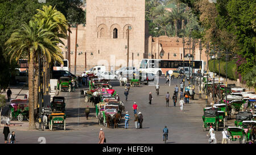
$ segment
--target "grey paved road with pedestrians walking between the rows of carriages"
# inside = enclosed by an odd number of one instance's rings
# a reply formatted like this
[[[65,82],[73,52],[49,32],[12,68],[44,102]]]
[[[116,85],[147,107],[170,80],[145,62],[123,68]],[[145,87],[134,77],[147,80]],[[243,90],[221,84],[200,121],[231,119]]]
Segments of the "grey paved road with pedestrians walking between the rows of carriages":
[[[128,101],[125,102],[126,111],[129,111],[131,119],[129,129],[124,129],[124,122],[119,124],[118,129],[106,128],[98,125],[95,118],[95,110],[92,103],[85,103],[84,98],[79,95],[80,89],[75,92],[61,92],[59,96],[65,97],[67,113],[67,129],[55,131],[26,131],[26,123],[23,127],[10,127],[16,131],[18,143],[39,143],[38,138],[44,137],[46,143],[98,143],[98,132],[100,128],[105,131],[107,143],[163,143],[162,130],[164,125],[169,128],[169,140],[167,143],[195,144],[208,143],[207,132],[203,132],[201,116],[203,106],[193,100],[194,103],[185,104],[183,111],[178,106],[166,107],[165,94],[167,91],[174,93],[174,87],[179,83],[178,79],[171,81],[171,86],[164,85],[164,78],[159,79],[160,95],[156,96],[154,86],[142,85],[131,87]],[[125,100],[124,88],[118,86],[118,82],[112,82],[113,89],[117,90],[121,100]],[[178,85],[179,86],[179,85]],[[148,104],[148,93],[152,92],[152,104]],[[132,106],[137,102],[138,112],[143,114],[143,128],[135,129]],[[84,110],[90,106],[91,114],[86,120]],[[221,132],[216,133],[217,143],[221,142]],[[3,139],[1,134],[0,139]]]

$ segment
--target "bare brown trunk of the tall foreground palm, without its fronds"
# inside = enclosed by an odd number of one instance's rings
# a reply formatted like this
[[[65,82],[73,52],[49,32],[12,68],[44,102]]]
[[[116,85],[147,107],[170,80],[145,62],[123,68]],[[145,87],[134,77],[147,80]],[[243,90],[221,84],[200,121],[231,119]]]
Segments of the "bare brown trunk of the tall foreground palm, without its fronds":
[[[36,129],[34,119],[34,86],[33,86],[33,74],[34,74],[34,55],[30,57],[30,63],[28,67],[28,107],[29,107],[29,129]]]

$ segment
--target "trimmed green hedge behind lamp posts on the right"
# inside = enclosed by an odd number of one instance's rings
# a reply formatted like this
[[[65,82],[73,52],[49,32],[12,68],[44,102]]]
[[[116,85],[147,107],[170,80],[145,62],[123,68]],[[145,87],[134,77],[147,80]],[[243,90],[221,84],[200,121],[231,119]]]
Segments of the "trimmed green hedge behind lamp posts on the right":
[[[209,60],[209,70],[213,72],[213,60]],[[234,61],[228,61],[228,78],[237,80],[238,76],[236,74],[237,65]],[[215,60],[215,73],[219,73],[218,71],[218,60]],[[220,61],[220,75],[222,77],[226,77],[226,62]]]

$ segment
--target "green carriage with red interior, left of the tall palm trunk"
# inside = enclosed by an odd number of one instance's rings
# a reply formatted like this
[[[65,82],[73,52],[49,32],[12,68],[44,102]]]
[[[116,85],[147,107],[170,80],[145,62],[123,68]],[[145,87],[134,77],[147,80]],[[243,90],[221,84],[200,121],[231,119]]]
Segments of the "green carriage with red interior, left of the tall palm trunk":
[[[28,99],[11,99],[9,108],[10,120],[18,119],[19,122],[22,122],[24,118],[28,119]]]

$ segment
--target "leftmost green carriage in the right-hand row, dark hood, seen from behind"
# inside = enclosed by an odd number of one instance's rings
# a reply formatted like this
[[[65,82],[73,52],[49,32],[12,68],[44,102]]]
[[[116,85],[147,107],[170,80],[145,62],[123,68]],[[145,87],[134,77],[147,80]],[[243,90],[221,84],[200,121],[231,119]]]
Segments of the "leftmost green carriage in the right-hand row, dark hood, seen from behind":
[[[210,126],[216,128],[216,131],[218,131],[218,123],[219,123],[219,117],[218,117],[218,110],[213,108],[204,108],[204,115],[202,116],[203,119],[203,131],[204,129],[207,130],[207,127]]]

